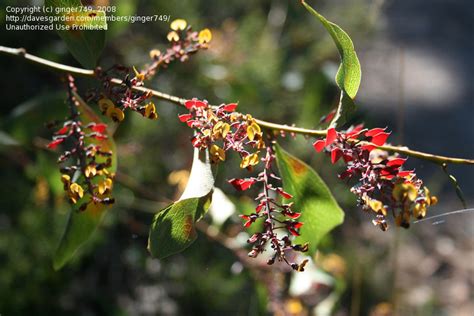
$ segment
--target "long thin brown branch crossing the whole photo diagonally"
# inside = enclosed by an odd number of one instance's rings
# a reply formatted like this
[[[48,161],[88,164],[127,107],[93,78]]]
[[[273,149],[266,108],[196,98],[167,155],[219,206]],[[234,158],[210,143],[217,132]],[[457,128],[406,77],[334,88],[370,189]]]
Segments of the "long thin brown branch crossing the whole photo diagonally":
[[[31,55],[26,52],[24,48],[10,48],[10,47],[5,47],[5,46],[0,46],[0,53],[6,54],[6,55],[13,55],[17,57],[21,57],[23,59],[26,59],[32,63],[43,65],[49,69],[54,69],[57,71],[62,71],[66,73],[70,73],[73,75],[78,75],[78,76],[85,76],[85,77],[95,77],[96,73],[94,70],[91,69],[83,69],[83,68],[77,68],[77,67],[72,67],[56,62],[52,62],[50,60],[37,57],[34,55]],[[111,83],[115,85],[123,85],[123,81],[118,78],[112,78],[110,80]],[[140,92],[145,92],[145,93],[151,93],[154,97],[165,100],[177,105],[184,105],[184,102],[186,99],[180,98],[177,96],[169,95],[160,91],[148,89],[145,87],[132,87],[133,90],[135,91],[140,91]],[[257,123],[265,128],[271,129],[271,130],[278,130],[278,131],[285,131],[288,133],[294,133],[294,134],[300,134],[300,135],[306,135],[306,136],[313,136],[313,137],[323,137],[326,135],[325,130],[313,130],[313,129],[306,129],[306,128],[300,128],[296,126],[288,126],[288,125],[282,125],[282,124],[277,124],[277,123],[272,123],[272,122],[267,122],[263,121],[260,119],[256,119]],[[367,142],[365,142],[367,143]],[[369,143],[367,143],[369,144]],[[396,152],[399,154],[403,154],[406,156],[422,159],[422,160],[427,160],[431,161],[440,165],[443,164],[467,164],[467,165],[474,165],[474,159],[464,159],[464,158],[455,158],[455,157],[447,157],[447,156],[440,156],[440,155],[434,155],[430,153],[425,153],[421,151],[416,151],[416,150],[411,150],[408,147],[405,146],[391,146],[391,145],[384,145],[384,146],[376,146],[379,149],[390,151],[390,152]]]

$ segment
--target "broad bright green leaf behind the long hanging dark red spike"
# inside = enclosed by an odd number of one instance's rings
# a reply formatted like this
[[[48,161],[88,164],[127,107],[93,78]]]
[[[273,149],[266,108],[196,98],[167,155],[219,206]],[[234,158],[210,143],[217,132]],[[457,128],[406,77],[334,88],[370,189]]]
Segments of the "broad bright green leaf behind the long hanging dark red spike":
[[[293,195],[294,210],[301,212],[298,220],[304,223],[295,242],[308,242],[313,255],[324,235],[344,221],[344,212],[316,171],[278,144],[275,154],[283,188]]]

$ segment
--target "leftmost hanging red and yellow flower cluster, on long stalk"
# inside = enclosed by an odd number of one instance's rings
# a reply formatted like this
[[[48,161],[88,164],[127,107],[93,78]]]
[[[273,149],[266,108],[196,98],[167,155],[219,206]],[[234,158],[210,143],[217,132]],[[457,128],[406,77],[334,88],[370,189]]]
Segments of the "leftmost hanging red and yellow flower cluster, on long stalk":
[[[114,202],[111,197],[114,174],[108,170],[112,165],[112,152],[99,145],[107,138],[107,125],[96,122],[83,125],[79,102],[73,95],[74,79],[69,76],[68,81],[70,117],[54,133],[48,148],[55,149],[62,143],[68,147],[58,158],[61,181],[69,202],[84,211],[91,203],[109,205]]]

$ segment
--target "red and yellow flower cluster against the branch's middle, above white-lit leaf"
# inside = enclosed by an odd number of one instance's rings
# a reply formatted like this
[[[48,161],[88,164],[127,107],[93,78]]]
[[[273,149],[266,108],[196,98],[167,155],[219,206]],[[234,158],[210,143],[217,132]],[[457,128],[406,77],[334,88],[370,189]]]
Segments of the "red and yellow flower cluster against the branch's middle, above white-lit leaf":
[[[237,103],[210,106],[193,99],[184,105],[189,113],[179,115],[180,121],[195,129],[193,146],[209,149],[214,163],[225,161],[228,150],[240,155],[241,168],[251,170],[260,162],[260,150],[265,148],[262,131],[251,115],[234,112]]]

